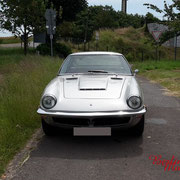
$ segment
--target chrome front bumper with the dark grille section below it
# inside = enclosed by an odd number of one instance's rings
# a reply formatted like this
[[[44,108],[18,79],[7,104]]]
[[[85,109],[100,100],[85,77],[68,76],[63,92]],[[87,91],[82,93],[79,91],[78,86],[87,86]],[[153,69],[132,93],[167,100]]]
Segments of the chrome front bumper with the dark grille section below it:
[[[132,127],[146,113],[146,107],[135,111],[115,112],[57,112],[37,111],[48,124],[59,127]]]

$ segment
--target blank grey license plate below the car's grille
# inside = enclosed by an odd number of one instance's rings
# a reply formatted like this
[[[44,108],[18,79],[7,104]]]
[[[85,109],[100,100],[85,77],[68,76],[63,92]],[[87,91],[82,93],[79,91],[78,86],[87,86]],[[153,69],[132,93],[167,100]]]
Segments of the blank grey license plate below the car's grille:
[[[74,136],[111,136],[111,128],[82,127],[73,129]]]

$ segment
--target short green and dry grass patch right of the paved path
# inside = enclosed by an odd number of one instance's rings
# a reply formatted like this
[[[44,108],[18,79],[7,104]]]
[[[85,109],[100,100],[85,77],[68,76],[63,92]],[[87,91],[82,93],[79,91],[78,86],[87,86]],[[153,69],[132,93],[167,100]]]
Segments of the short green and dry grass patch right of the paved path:
[[[140,75],[160,83],[169,89],[168,94],[180,97],[180,61],[144,61],[135,62],[134,69],[140,70]]]

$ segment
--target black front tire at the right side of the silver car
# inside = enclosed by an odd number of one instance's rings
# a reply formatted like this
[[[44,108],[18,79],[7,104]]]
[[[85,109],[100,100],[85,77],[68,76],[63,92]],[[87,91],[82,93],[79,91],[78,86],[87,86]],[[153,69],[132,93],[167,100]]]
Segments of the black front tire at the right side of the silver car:
[[[144,122],[145,122],[145,117],[143,116],[140,120],[140,122],[135,125],[132,129],[131,132],[134,136],[140,137],[143,135],[144,132]]]

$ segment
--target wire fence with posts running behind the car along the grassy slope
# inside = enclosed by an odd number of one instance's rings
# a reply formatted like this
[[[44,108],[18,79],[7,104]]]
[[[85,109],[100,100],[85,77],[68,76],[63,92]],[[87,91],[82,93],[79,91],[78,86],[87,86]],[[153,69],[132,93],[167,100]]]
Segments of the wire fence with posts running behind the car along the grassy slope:
[[[176,54],[174,48],[167,48],[162,46],[147,47],[123,47],[123,46],[110,46],[103,44],[100,41],[92,40],[85,42],[81,39],[63,38],[60,41],[70,46],[73,51],[113,51],[119,52],[126,56],[129,61],[139,60],[180,60],[180,48],[176,48]]]

